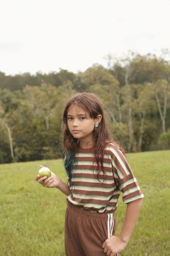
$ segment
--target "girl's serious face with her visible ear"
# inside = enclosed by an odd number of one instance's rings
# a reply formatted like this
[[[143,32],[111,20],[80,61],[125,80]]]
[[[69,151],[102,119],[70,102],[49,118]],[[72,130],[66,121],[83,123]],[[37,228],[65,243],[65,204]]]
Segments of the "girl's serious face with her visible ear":
[[[92,131],[96,122],[101,121],[101,115],[97,118],[91,118],[89,113],[78,105],[72,104],[67,112],[67,125],[70,133],[76,139],[87,139],[92,141]]]

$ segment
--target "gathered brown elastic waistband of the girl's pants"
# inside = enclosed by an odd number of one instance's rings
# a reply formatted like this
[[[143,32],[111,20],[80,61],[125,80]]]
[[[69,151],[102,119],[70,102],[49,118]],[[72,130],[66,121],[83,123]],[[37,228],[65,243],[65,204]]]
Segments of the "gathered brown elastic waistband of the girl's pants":
[[[90,212],[89,210],[84,210],[82,208],[79,208],[75,206],[74,204],[71,204],[67,201],[67,208],[73,210],[75,213],[80,214],[82,216],[87,216],[91,218],[100,218],[102,220],[108,220],[108,215],[112,215],[114,217],[114,213],[96,213],[96,212]]]

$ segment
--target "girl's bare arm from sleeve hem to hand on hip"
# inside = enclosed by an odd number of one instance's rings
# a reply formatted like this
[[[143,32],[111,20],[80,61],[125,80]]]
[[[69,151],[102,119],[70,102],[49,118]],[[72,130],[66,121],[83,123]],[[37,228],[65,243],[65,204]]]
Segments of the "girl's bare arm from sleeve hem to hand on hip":
[[[139,212],[142,206],[142,199],[131,201],[127,204],[126,215],[124,225],[120,236],[111,236],[103,243],[104,253],[109,256],[114,256],[114,254],[119,253],[124,250],[128,245],[131,233],[135,227],[138,220]]]

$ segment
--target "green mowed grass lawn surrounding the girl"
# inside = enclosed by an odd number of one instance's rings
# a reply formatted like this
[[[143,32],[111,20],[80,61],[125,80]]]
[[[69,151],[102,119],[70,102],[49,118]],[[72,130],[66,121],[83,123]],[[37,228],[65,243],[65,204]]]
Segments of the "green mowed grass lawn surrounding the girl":
[[[127,158],[145,199],[129,245],[121,255],[168,256],[170,151],[133,153],[127,154]],[[56,188],[44,188],[35,181],[40,164],[66,181],[61,159],[0,165],[1,256],[65,255],[66,196]],[[116,211],[117,236],[125,210],[120,197]]]

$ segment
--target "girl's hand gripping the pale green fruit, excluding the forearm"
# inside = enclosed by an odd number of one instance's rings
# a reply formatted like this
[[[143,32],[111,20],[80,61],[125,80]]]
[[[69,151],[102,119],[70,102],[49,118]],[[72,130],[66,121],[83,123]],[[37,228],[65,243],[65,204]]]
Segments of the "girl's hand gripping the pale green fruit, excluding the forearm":
[[[42,166],[40,166],[40,167],[42,167]],[[36,176],[36,181],[41,183],[41,185],[43,185],[44,187],[47,187],[47,188],[57,188],[58,187],[58,183],[59,183],[59,177],[57,177],[56,174],[54,174],[51,171],[51,176],[50,177],[44,176],[44,177],[40,178],[40,175],[38,174]]]

